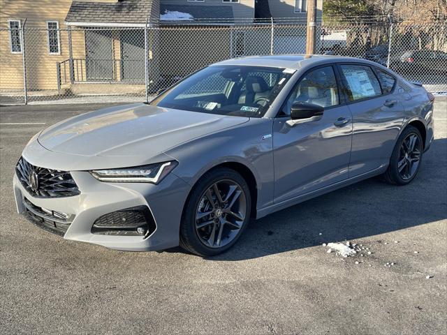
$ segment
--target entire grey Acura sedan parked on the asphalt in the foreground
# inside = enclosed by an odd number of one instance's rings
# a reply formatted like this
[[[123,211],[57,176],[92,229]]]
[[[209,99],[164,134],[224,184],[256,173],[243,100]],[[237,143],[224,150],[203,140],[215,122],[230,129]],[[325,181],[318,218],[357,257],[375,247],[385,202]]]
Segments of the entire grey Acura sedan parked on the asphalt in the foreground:
[[[411,182],[433,140],[433,101],[372,61],[222,61],[151,103],[36,134],[15,170],[17,211],[65,239],[217,255],[250,218],[378,174]]]

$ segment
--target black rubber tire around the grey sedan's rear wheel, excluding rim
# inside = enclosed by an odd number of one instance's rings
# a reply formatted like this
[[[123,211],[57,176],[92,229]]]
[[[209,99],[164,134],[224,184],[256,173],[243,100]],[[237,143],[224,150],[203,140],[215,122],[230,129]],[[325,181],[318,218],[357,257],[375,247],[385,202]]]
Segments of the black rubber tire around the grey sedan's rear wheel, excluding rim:
[[[400,161],[402,161],[402,152],[405,152],[404,150],[404,141],[408,139],[411,135],[416,135],[418,142],[415,144],[418,147],[419,150],[419,159],[418,159],[418,165],[416,168],[414,168],[413,172],[411,173],[410,177],[402,177],[402,173],[399,171],[398,165]],[[422,162],[423,157],[423,139],[420,135],[420,131],[418,128],[414,126],[407,126],[404,131],[399,136],[399,139],[397,140],[395,147],[393,149],[393,154],[391,154],[390,158],[390,165],[388,166],[388,170],[386,170],[384,177],[385,180],[388,182],[388,184],[393,185],[406,185],[411,183],[413,179],[416,177],[416,175],[419,172],[420,169],[420,163]],[[402,151],[404,150],[404,151]]]

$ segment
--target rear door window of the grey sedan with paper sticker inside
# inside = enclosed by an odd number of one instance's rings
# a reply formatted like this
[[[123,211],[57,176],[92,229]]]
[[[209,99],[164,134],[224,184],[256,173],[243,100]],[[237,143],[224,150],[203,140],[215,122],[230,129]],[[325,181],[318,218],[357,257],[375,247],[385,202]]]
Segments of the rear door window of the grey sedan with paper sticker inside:
[[[349,101],[372,98],[382,94],[379,80],[369,66],[342,65]]]

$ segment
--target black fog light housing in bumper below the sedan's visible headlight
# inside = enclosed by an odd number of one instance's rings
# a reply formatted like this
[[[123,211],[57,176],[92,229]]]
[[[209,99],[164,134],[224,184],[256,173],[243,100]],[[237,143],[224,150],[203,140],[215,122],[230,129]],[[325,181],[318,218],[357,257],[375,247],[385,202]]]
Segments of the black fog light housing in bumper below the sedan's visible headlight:
[[[91,226],[92,234],[147,237],[156,229],[147,206],[112,211],[100,216]]]

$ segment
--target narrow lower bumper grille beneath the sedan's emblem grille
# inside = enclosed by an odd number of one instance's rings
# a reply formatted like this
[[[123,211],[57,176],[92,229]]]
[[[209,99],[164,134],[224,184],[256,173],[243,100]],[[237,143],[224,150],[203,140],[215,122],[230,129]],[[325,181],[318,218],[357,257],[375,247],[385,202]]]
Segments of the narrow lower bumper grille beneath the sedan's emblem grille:
[[[68,227],[70,227],[74,214],[66,214],[61,211],[52,211],[43,207],[38,207],[35,204],[24,198],[23,204],[25,207],[25,216],[31,223],[34,223],[39,228],[64,236]]]

